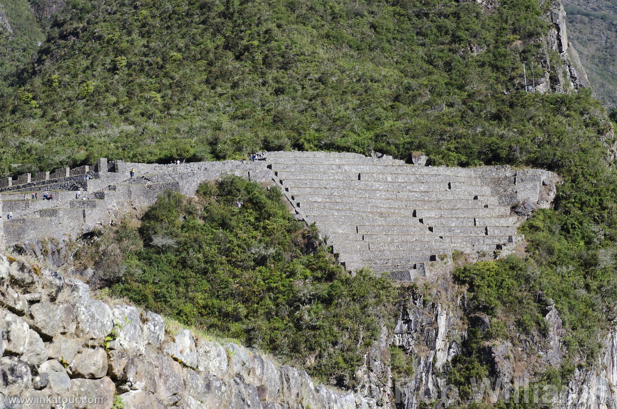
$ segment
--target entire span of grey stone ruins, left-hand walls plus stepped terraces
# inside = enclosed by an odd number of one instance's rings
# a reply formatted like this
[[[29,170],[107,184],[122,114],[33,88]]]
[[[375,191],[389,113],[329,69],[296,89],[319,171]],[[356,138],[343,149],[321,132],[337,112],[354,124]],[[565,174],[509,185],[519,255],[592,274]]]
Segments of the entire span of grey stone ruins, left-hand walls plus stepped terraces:
[[[165,189],[192,195],[224,173],[280,186],[296,218],[317,224],[347,270],[370,266],[403,280],[452,262],[454,250],[480,258],[506,254],[520,240],[522,218],[511,207],[524,201],[547,207],[555,194],[549,171],[424,167],[350,153],[270,152],[257,162],[181,165],[99,159],[93,167],[0,180],[0,240],[12,246],[39,237],[75,239],[153,204]],[[38,200],[30,200],[33,191]],[[44,192],[54,200],[42,200]]]

